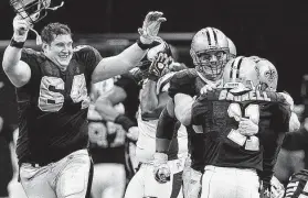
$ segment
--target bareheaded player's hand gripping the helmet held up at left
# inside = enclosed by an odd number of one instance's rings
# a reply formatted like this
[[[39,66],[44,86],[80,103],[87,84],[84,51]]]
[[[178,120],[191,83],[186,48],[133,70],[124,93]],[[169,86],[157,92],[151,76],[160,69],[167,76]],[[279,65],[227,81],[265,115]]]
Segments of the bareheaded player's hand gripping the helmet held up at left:
[[[15,15],[15,18],[13,20],[13,30],[14,30],[13,38],[14,38],[14,41],[25,42],[31,26],[32,26],[32,24],[28,20],[22,19],[22,16],[19,14]]]

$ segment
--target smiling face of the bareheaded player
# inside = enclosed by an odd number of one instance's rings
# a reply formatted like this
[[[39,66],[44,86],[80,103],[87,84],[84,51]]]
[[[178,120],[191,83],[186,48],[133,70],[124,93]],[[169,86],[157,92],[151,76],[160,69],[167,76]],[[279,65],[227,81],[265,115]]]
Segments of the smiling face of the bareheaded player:
[[[73,56],[73,40],[70,34],[57,35],[44,47],[45,55],[60,67],[67,67]]]

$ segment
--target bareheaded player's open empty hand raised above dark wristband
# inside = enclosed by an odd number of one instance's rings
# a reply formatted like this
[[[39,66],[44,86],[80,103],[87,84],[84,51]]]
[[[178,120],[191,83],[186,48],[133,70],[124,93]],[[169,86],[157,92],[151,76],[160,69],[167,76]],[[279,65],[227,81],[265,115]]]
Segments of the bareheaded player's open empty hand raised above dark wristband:
[[[161,22],[167,21],[162,14],[162,12],[152,11],[146,15],[142,28],[138,29],[141,43],[150,44],[157,38]]]

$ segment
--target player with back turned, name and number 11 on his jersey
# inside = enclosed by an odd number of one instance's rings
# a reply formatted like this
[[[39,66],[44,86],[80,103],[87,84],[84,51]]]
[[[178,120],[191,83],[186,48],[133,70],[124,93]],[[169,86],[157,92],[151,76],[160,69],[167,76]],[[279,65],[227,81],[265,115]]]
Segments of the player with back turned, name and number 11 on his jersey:
[[[257,173],[265,147],[273,144],[276,151],[290,118],[284,96],[256,89],[259,75],[253,61],[240,56],[225,67],[224,88],[202,95],[192,106],[190,121],[204,141],[203,147],[191,145],[203,150],[201,197],[259,197]]]

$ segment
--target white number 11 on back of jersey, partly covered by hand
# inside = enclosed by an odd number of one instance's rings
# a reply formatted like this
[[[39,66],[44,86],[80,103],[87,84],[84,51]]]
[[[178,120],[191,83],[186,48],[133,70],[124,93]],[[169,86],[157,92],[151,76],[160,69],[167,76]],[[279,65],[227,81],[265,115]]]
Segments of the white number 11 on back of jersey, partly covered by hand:
[[[231,118],[234,118],[240,122],[242,118],[242,110],[238,103],[231,103],[227,108],[227,114]],[[258,124],[259,121],[259,108],[258,105],[248,105],[245,108],[245,117],[248,117],[255,124]],[[244,146],[248,151],[258,151],[259,150],[259,140],[257,136],[245,136],[242,135],[237,130],[231,130],[227,138],[235,142],[236,144]]]

